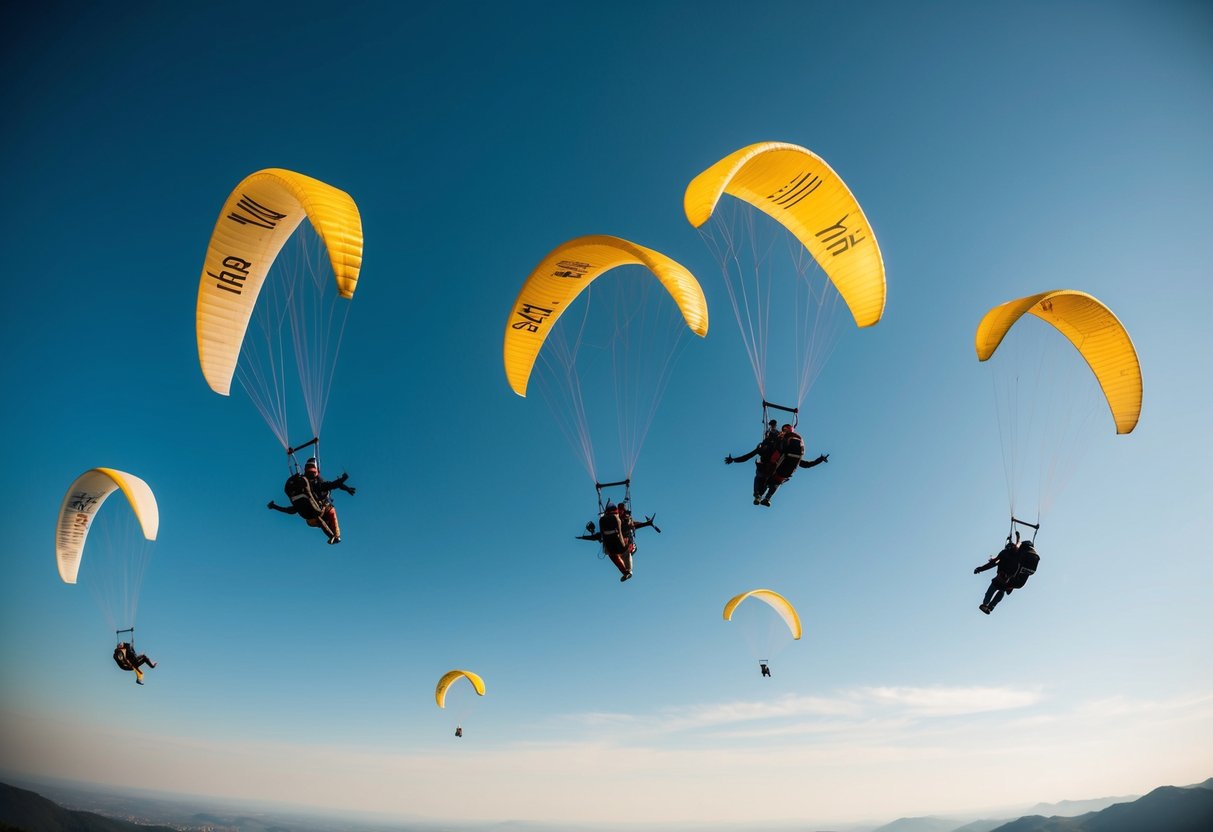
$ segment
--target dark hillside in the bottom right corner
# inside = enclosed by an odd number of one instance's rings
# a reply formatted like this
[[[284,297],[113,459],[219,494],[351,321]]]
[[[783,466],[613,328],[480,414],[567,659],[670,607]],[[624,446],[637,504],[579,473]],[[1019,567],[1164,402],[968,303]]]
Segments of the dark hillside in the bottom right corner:
[[[1132,803],[1117,803],[1077,817],[1030,815],[996,832],[1209,832],[1213,830],[1213,788],[1209,781],[1179,788],[1163,786]]]

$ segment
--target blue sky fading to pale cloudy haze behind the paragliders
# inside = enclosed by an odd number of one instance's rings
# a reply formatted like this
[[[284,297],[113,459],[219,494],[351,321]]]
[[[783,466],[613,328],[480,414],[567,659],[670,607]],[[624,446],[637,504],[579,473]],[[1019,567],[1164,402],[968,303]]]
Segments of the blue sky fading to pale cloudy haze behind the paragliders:
[[[442,820],[854,820],[1143,793],[1213,756],[1205,4],[45,6],[8,28],[10,528],[0,771]],[[758,141],[845,179],[888,270],[802,422],[827,466],[748,500],[758,397],[687,183]],[[281,452],[211,393],[193,312],[224,196],[279,166],[358,201],[325,426],[346,540],[264,509]],[[581,234],[690,268],[689,343],[636,471],[620,585],[593,489],[501,370],[529,270]],[[1117,312],[1145,375],[976,611],[1006,526],[991,306]],[[161,511],[136,688],[52,531],[80,472]],[[332,472],[336,473],[336,472]],[[644,534],[644,532],[642,532]],[[81,570],[81,581],[86,570]],[[721,619],[770,586],[762,679]],[[451,737],[433,685],[489,693]],[[1014,776],[1012,776],[1014,774]],[[475,800],[466,799],[474,793]]]

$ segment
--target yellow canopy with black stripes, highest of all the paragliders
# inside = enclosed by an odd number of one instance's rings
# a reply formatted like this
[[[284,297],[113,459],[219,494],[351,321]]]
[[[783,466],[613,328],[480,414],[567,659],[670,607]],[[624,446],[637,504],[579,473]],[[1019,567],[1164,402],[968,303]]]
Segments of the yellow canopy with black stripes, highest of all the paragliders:
[[[741,148],[691,179],[683,210],[695,228],[730,194],[787,228],[830,277],[856,326],[884,314],[884,260],[855,196],[810,150],[784,142]]]

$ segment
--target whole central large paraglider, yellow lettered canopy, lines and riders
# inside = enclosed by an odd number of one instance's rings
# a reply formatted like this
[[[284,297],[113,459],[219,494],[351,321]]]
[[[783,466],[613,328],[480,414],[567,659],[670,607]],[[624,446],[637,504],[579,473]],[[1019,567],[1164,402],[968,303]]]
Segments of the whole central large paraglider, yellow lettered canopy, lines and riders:
[[[565,317],[575,301],[582,314]],[[621,581],[632,571],[630,532],[651,524],[651,518],[630,520],[632,473],[688,329],[707,332],[707,302],[694,275],[660,252],[605,235],[580,237],[548,252],[526,278],[506,323],[509,387],[525,397],[531,381],[541,381],[594,484],[599,524],[610,526],[594,530],[591,523],[582,540],[602,543]],[[598,358],[602,365],[594,364]],[[594,446],[596,440],[609,443],[600,426],[610,423],[617,431],[623,478],[605,481],[597,474]],[[623,490],[615,501],[606,496],[613,489]],[[617,524],[617,514],[608,517],[608,505],[619,505],[628,519]]]

